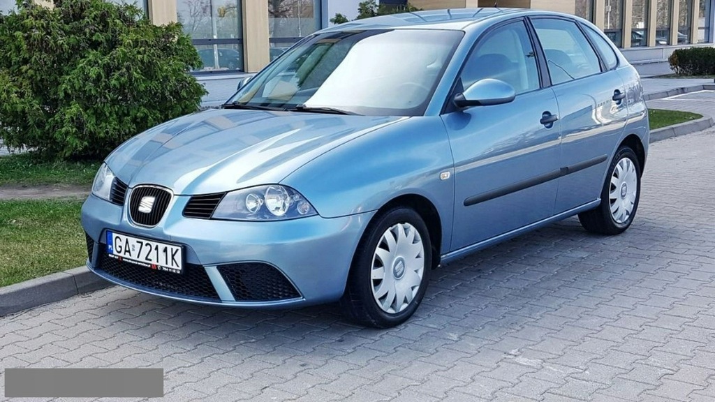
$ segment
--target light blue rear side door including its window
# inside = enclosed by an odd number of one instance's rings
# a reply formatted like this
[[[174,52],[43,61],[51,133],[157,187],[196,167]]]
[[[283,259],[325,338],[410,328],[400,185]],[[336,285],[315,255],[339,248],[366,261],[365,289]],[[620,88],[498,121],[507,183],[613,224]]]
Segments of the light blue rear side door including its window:
[[[626,89],[611,63],[616,60],[599,57],[576,21],[536,17],[531,23],[546,56],[561,121],[558,214],[600,196],[606,166],[628,118]]]

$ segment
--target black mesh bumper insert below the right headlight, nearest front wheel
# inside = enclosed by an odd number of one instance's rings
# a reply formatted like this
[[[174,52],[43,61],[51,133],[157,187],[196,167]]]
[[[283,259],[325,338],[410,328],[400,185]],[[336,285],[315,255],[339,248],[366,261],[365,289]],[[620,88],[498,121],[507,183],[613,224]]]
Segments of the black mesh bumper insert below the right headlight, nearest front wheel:
[[[287,278],[271,265],[230,264],[221,265],[218,270],[237,301],[270,301],[300,297]]]

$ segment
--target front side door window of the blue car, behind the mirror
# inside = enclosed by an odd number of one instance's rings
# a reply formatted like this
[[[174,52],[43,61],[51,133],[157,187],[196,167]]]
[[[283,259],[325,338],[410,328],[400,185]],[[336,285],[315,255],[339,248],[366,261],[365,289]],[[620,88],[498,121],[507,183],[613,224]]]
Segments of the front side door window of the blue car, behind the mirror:
[[[501,79],[516,94],[538,89],[536,57],[523,21],[500,26],[478,42],[460,79],[466,89],[485,78]]]

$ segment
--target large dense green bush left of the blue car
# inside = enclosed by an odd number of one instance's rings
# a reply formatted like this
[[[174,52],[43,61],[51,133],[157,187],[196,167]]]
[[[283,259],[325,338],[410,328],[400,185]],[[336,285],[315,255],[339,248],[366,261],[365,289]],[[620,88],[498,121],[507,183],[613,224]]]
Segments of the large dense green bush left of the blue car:
[[[179,24],[103,0],[23,0],[0,15],[0,139],[53,159],[103,158],[198,109],[201,61]]]

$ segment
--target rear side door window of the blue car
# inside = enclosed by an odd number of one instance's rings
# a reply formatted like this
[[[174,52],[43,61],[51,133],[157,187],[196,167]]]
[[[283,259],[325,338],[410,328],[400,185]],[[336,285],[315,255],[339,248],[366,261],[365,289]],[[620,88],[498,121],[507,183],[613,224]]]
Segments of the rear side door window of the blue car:
[[[552,84],[588,77],[601,72],[598,56],[578,29],[576,22],[564,19],[534,19]]]

